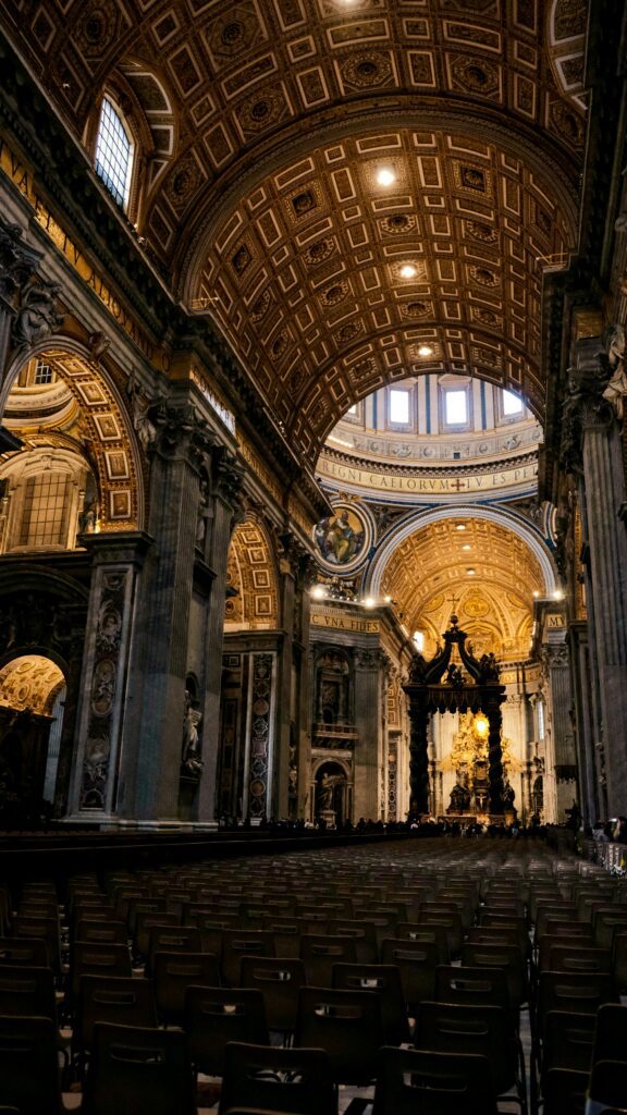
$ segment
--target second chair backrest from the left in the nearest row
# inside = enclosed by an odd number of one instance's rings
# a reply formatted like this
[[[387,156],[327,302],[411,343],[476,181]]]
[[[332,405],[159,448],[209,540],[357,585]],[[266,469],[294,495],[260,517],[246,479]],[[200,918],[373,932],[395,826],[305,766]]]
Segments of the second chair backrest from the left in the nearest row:
[[[196,1115],[187,1038],[158,1030],[96,1022],[83,1115]]]

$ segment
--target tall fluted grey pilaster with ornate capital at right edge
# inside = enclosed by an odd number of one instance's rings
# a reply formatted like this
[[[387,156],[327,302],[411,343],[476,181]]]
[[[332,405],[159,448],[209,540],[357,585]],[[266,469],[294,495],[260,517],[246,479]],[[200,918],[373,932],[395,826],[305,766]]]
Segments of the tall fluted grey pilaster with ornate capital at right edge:
[[[617,816],[627,813],[627,534],[619,517],[625,503],[620,432],[604,395],[610,374],[598,339],[578,342],[563,411],[562,462],[582,477],[608,808]]]

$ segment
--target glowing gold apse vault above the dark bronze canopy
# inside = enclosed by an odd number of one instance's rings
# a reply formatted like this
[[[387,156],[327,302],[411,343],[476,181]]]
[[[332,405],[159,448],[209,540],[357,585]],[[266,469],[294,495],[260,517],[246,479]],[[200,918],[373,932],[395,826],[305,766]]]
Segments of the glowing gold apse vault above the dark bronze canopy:
[[[454,598],[475,652],[527,658],[534,592],[544,595],[544,580],[525,543],[498,523],[470,518],[416,531],[395,550],[382,580],[382,594],[396,601],[407,629],[425,632],[427,656],[450,626]]]

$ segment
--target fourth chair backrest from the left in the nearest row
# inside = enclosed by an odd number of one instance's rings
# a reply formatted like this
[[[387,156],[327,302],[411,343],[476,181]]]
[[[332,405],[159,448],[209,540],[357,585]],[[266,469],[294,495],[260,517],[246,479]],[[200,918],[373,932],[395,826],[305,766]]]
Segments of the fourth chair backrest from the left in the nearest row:
[[[384,1047],[373,1115],[496,1115],[490,1063],[475,1054]]]

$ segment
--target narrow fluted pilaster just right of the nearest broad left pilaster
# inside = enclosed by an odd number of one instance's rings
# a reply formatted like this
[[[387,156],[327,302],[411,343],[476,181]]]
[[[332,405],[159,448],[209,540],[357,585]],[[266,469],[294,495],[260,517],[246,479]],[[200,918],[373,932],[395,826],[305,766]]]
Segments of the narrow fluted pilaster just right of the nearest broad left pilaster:
[[[199,785],[197,801],[197,818],[203,822],[212,821],[215,817],[226,563],[231,534],[238,520],[242,472],[234,455],[222,446],[216,446],[211,454],[209,476],[209,514],[203,558],[211,569],[212,582],[206,603],[202,678],[204,695],[201,734],[204,768]]]

